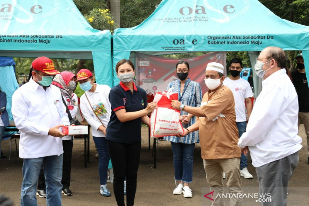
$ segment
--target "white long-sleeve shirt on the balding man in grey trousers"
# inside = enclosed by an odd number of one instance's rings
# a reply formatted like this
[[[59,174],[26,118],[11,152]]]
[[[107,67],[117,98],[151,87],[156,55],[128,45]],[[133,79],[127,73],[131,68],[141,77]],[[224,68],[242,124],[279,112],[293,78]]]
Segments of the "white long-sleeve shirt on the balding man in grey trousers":
[[[285,69],[263,82],[248,126],[238,146],[248,146],[252,165],[259,167],[293,154],[302,148],[298,134],[298,99]]]

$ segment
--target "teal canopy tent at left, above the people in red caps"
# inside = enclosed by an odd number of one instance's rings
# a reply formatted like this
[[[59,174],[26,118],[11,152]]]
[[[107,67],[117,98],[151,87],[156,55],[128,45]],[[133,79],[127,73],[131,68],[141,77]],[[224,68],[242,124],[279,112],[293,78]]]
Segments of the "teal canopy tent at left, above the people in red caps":
[[[110,31],[93,29],[72,0],[4,0],[0,56],[93,59],[96,81],[112,86]]]

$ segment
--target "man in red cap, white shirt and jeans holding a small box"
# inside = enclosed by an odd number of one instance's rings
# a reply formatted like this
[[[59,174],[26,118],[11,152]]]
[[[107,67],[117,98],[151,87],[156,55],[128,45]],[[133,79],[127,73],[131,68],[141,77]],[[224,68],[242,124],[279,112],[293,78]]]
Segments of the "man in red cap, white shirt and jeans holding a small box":
[[[20,205],[37,205],[36,185],[41,166],[46,179],[47,205],[61,205],[63,125],[69,125],[61,92],[51,85],[55,70],[47,57],[32,62],[32,78],[13,94],[12,114],[20,132],[19,157],[23,158]]]

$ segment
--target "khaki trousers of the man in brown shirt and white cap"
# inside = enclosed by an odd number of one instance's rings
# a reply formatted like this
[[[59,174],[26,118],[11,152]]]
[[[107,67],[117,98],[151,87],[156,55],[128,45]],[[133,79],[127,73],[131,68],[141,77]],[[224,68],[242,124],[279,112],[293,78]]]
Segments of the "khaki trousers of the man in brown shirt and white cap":
[[[217,197],[218,194],[225,194],[223,185],[223,172],[226,177],[227,193],[243,193],[242,183],[240,179],[240,158],[230,159],[204,159],[204,169],[206,172],[206,180],[210,185],[210,191],[214,191],[212,199],[214,199],[212,206],[222,206],[224,204],[224,197]],[[217,197],[217,198],[216,198]],[[222,196],[221,196],[222,197]],[[230,206],[242,206],[243,199],[236,198],[233,195],[230,198]]]

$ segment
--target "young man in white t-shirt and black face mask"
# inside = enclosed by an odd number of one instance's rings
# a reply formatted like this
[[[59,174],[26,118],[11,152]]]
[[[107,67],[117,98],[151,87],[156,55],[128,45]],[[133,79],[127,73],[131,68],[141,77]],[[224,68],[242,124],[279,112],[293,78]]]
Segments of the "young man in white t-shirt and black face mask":
[[[239,137],[246,131],[247,118],[245,112],[245,102],[247,105],[248,119],[252,111],[251,98],[253,96],[252,89],[248,81],[240,78],[240,72],[242,69],[242,61],[238,58],[234,58],[230,64],[231,76],[225,78],[223,85],[229,87],[234,95],[235,99],[235,113],[236,113],[236,125],[239,132]],[[245,179],[252,179],[252,175],[248,171],[248,158],[242,153],[240,158],[240,176]]]

